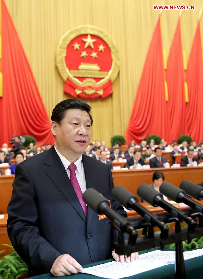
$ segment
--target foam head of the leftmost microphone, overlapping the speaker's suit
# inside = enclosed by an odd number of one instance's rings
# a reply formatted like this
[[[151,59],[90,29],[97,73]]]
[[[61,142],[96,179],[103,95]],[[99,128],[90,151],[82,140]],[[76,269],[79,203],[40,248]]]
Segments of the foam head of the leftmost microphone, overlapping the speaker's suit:
[[[94,210],[95,212],[97,212],[98,214],[103,214],[103,212],[100,212],[98,210],[100,204],[102,202],[106,202],[108,204],[108,206],[110,207],[110,203],[109,201],[103,197],[99,192],[97,192],[95,189],[93,188],[88,188],[84,194],[83,194],[83,201],[92,208],[92,210]]]

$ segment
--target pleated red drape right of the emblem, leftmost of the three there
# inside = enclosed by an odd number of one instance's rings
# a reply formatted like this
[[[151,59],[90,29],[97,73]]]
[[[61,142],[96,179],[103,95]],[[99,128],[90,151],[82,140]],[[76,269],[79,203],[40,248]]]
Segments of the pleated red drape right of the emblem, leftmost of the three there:
[[[160,18],[149,45],[125,139],[127,144],[132,139],[140,143],[151,134],[168,140]]]

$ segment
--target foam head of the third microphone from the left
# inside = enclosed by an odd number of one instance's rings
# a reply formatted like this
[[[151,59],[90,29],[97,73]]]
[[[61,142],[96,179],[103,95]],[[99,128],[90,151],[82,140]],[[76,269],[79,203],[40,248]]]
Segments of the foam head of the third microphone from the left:
[[[140,196],[143,200],[150,203],[152,206],[157,206],[154,204],[155,197],[159,196],[163,199],[163,195],[159,193],[154,188],[150,187],[149,185],[143,183],[137,188],[137,194]]]

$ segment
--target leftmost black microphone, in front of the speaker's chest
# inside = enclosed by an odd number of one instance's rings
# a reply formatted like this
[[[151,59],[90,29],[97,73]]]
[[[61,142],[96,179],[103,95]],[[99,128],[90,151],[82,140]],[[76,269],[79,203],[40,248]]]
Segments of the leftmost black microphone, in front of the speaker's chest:
[[[84,202],[92,208],[97,214],[105,214],[114,226],[122,232],[132,234],[135,232],[131,224],[123,216],[110,208],[109,201],[93,188],[88,188],[83,194]]]

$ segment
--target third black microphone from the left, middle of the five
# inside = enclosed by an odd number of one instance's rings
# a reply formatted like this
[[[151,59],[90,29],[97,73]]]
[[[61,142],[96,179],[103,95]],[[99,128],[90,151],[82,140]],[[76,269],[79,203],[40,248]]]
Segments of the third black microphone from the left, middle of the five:
[[[154,188],[147,184],[141,184],[137,189],[137,194],[142,199],[149,202],[152,206],[161,206],[163,209],[169,212],[171,216],[179,219],[179,221],[184,220],[187,224],[192,225],[193,227],[191,230],[194,230],[196,222],[191,217],[186,215],[184,211],[179,210],[175,206],[172,206],[169,202],[164,201],[163,195]]]

